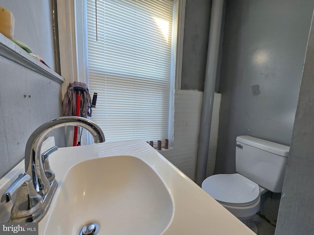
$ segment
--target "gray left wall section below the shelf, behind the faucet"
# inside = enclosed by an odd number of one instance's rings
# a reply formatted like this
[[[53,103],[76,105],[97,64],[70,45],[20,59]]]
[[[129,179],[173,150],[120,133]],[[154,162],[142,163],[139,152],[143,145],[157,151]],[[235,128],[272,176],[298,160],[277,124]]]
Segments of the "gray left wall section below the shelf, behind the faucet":
[[[26,142],[41,124],[62,116],[61,86],[0,56],[0,178],[23,158]],[[26,94],[26,97],[24,96]],[[30,97],[28,96],[30,95]],[[64,132],[52,133],[64,146]],[[22,173],[22,172],[21,172]]]

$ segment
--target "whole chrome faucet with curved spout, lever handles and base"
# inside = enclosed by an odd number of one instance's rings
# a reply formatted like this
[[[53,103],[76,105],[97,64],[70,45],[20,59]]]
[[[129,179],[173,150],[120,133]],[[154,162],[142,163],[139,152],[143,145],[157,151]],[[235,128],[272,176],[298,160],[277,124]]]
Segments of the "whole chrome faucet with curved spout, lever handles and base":
[[[92,134],[95,143],[105,142],[102,129],[86,118],[61,117],[39,126],[26,143],[26,173],[22,173],[1,197],[1,202],[9,202],[11,195],[18,191],[11,210],[10,222],[38,222],[45,215],[57,188],[48,157],[57,148],[53,147],[41,154],[41,146],[47,135],[54,129],[71,125],[87,129]]]

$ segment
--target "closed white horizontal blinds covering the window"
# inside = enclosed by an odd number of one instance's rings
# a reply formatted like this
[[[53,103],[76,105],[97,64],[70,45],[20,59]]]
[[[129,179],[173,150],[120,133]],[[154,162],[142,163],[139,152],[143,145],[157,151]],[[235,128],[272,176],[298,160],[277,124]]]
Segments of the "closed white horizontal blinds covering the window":
[[[86,9],[91,119],[106,141],[171,139],[173,0],[87,0]]]

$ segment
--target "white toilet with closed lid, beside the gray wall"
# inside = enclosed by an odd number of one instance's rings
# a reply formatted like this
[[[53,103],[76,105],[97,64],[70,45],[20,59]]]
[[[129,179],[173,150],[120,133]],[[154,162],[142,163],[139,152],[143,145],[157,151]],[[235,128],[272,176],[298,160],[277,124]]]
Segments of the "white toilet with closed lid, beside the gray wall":
[[[238,136],[235,144],[237,173],[209,176],[202,188],[255,231],[250,218],[259,211],[263,193],[282,191],[288,154],[289,146]]]

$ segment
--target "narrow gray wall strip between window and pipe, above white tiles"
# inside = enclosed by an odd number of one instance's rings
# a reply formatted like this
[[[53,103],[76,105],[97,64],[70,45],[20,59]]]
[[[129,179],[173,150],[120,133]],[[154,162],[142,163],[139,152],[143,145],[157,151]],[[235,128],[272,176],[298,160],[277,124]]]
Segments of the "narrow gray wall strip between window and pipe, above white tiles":
[[[182,90],[204,91],[211,0],[186,0]]]

